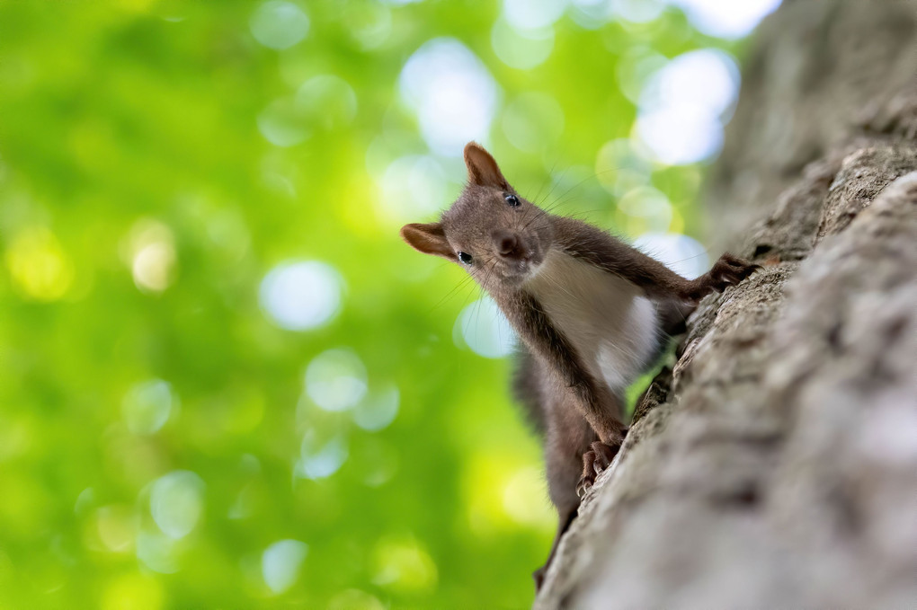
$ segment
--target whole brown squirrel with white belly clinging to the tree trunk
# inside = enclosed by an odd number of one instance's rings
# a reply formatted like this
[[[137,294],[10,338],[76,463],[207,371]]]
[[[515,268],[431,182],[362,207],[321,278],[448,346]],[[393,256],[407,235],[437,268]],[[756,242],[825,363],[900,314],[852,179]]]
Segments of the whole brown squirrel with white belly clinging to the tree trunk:
[[[624,391],[681,332],[701,298],[756,265],[728,254],[686,279],[601,229],[526,201],[480,145],[465,147],[469,182],[438,223],[402,228],[409,245],[464,267],[522,340],[514,390],[544,438],[558,541],[580,498],[621,448]]]

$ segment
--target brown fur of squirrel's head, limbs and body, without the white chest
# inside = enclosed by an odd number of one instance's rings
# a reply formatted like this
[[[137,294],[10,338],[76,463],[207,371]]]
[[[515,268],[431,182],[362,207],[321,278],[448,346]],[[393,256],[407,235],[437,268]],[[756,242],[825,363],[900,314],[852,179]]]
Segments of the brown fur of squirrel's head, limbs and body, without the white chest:
[[[465,147],[465,163],[469,184],[440,222],[407,224],[402,236],[425,254],[454,262],[458,253],[471,256],[470,265],[459,264],[492,296],[522,340],[514,387],[544,436],[548,494],[559,517],[547,562],[535,574],[540,586],[580,496],[624,441],[626,385],[609,387],[592,375],[557,321],[525,289],[526,280],[553,250],[585,261],[654,300],[660,326],[654,332],[661,335],[683,328],[698,300],[746,278],[756,266],[726,254],[701,278],[682,278],[591,224],[549,214],[525,201],[492,156],[473,142]]]

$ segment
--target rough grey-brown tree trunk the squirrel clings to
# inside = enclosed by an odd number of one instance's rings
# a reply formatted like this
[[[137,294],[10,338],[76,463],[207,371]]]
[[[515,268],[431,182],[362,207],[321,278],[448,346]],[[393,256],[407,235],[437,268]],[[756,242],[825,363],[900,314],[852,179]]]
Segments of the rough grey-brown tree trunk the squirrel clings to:
[[[711,206],[766,267],[692,316],[536,608],[917,607],[917,6],[785,0],[730,129]]]

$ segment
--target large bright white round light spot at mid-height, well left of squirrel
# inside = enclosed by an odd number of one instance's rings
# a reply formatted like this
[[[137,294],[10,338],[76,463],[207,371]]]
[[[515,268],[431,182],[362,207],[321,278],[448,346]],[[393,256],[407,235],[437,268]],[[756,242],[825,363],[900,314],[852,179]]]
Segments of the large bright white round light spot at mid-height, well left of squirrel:
[[[308,331],[334,318],[343,285],[335,268],[325,263],[282,263],[261,281],[261,308],[282,328]]]

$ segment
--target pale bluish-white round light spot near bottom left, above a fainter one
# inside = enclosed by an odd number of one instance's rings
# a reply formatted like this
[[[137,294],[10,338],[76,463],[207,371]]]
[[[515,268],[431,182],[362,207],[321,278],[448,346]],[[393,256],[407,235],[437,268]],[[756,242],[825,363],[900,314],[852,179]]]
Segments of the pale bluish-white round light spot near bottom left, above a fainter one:
[[[204,481],[188,470],[160,476],[149,492],[149,512],[163,534],[184,538],[204,512]]]

